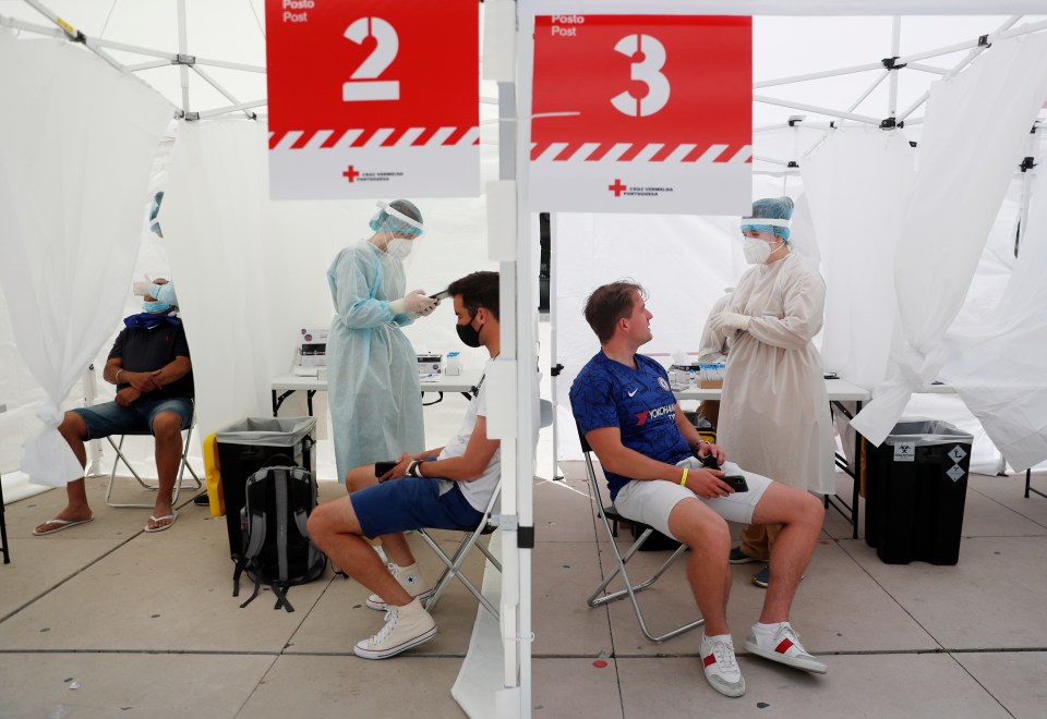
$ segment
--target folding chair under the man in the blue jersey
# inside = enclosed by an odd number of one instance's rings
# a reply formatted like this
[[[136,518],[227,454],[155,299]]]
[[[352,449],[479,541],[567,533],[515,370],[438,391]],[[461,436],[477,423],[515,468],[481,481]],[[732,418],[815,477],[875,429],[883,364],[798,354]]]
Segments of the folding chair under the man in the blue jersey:
[[[614,570],[610,572],[604,580],[600,583],[600,586],[597,587],[595,592],[589,595],[589,598],[586,602],[590,608],[592,607],[602,607],[609,601],[614,601],[615,599],[622,599],[623,597],[628,596],[629,601],[633,604],[633,611],[636,613],[636,620],[640,624],[640,631],[643,632],[646,636],[651,642],[655,644],[661,644],[666,639],[671,639],[674,636],[683,634],[684,632],[689,632],[693,629],[698,629],[706,623],[705,619],[697,619],[682,626],[677,626],[674,630],[665,632],[664,634],[655,635],[647,627],[647,621],[643,619],[643,611],[640,609],[640,605],[636,599],[636,595],[643,589],[649,588],[653,585],[659,577],[664,574],[670,566],[672,566],[677,559],[683,557],[684,552],[687,551],[687,545],[681,545],[672,556],[665,560],[665,563],[659,568],[650,578],[640,582],[638,584],[633,584],[633,581],[629,578],[628,571],[625,565],[633,558],[633,556],[643,546],[643,543],[647,541],[648,537],[653,534],[654,529],[649,526],[646,526],[643,533],[637,537],[633,545],[625,551],[623,555],[618,551],[617,543],[615,543],[616,532],[611,528],[611,522],[617,524],[618,522],[633,522],[627,516],[619,514],[613,505],[604,507],[603,500],[600,499],[600,485],[597,482],[597,472],[595,467],[592,464],[592,448],[589,446],[589,442],[586,441],[586,436],[582,434],[581,428],[578,429],[578,438],[581,440],[581,450],[586,458],[586,474],[589,478],[589,491],[592,495],[593,501],[597,503],[598,510],[597,514],[600,516],[601,524],[603,524],[604,529],[606,529],[607,544],[611,546],[611,552],[614,555],[615,565]],[[607,592],[607,585],[614,581],[618,574],[622,575],[622,581],[625,584],[624,589],[618,589],[617,592]]]

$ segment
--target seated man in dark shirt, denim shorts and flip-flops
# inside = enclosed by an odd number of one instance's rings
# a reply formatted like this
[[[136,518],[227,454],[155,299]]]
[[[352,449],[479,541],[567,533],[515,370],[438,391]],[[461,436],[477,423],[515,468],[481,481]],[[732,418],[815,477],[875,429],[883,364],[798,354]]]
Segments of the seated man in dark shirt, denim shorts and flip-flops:
[[[101,373],[117,386],[115,401],[65,413],[58,430],[81,465],[86,465],[84,441],[148,429],[156,439],[159,488],[146,532],[163,532],[174,523],[171,507],[178,465],[182,456],[182,429],[193,416],[193,373],[182,321],[171,313],[173,285],[157,280],[145,293],[143,312],[123,320],[124,328],[109,352]],[[84,478],[65,486],[68,503],[52,520],[33,529],[37,536],[91,522]]]

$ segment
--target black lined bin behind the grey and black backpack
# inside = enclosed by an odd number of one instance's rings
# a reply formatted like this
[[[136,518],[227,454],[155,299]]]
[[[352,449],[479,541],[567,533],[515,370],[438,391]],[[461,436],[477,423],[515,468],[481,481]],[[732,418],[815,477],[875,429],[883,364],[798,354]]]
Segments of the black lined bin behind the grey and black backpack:
[[[229,553],[233,560],[243,551],[240,510],[245,502],[248,477],[276,454],[286,454],[294,464],[315,474],[315,417],[248,417],[215,432]]]

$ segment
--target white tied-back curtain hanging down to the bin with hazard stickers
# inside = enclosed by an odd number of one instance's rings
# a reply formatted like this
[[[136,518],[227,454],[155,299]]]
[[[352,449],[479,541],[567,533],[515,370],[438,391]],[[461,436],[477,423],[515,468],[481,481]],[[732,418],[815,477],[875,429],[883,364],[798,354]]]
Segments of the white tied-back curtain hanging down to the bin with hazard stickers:
[[[888,378],[853,423],[874,444],[890,434],[912,392],[938,377],[948,352],[942,337],[966,295],[1045,95],[1042,34],[999,42],[931,88],[920,167],[894,257],[899,319]]]

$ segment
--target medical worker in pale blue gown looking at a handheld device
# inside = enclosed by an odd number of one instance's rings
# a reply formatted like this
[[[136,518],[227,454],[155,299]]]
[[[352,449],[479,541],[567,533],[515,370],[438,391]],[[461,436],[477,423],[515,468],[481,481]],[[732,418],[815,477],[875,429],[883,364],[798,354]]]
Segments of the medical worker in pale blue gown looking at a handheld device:
[[[414,348],[400,329],[437,302],[406,292],[404,260],[422,234],[411,203],[378,203],[374,234],[346,247],[327,270],[338,313],[327,338],[327,402],[338,480],[353,467],[425,449]]]

